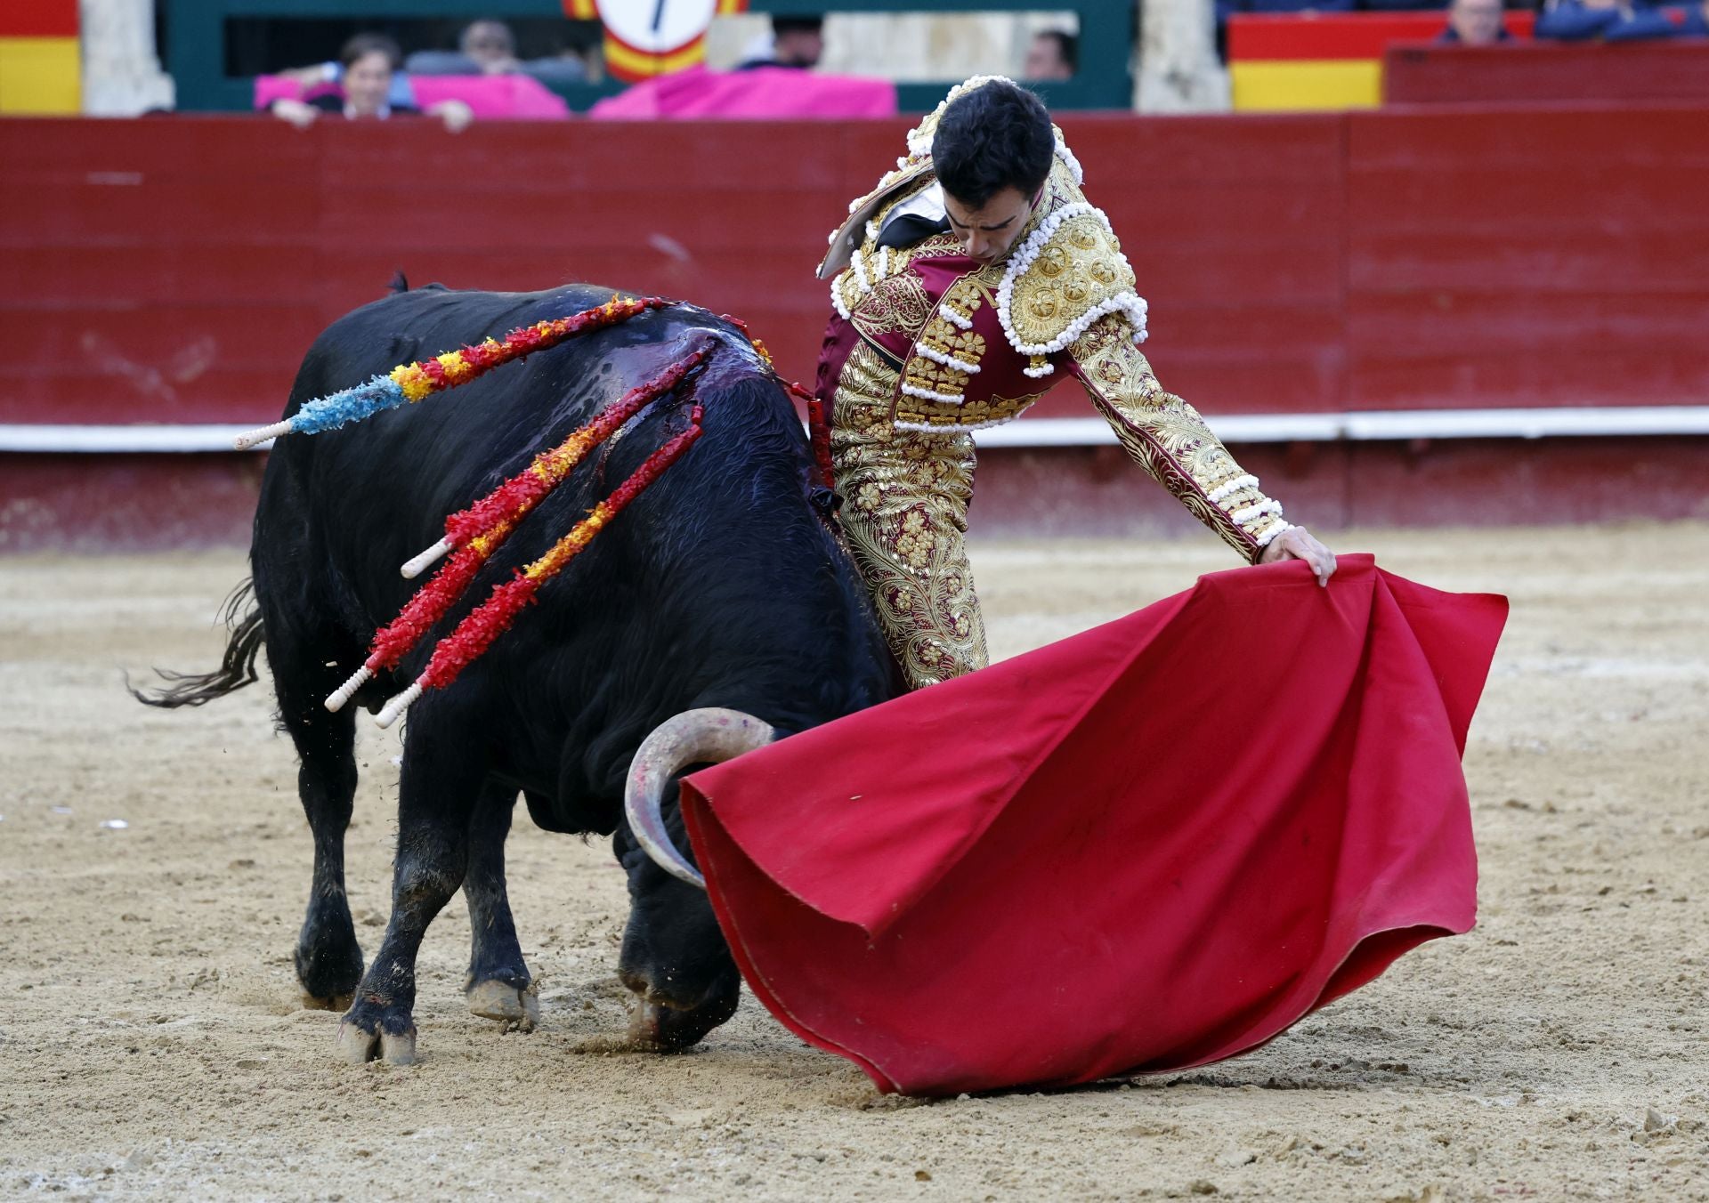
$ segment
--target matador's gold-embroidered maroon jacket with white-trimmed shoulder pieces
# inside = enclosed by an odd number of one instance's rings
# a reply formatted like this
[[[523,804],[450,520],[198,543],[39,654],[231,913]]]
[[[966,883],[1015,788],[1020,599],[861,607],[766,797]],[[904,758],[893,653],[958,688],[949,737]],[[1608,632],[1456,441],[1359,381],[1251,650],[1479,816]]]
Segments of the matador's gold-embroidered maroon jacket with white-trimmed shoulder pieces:
[[[943,106],[988,79],[959,85]],[[1044,191],[1005,260],[969,260],[950,234],[878,246],[885,219],[937,185],[931,137],[943,106],[832,234],[820,267],[836,309],[820,396],[834,414],[882,405],[904,431],[948,434],[1017,417],[1068,371],[1140,467],[1256,560],[1289,528],[1282,506],[1138,352],[1145,301],[1109,220],[1080,191],[1080,164],[1060,130]]]

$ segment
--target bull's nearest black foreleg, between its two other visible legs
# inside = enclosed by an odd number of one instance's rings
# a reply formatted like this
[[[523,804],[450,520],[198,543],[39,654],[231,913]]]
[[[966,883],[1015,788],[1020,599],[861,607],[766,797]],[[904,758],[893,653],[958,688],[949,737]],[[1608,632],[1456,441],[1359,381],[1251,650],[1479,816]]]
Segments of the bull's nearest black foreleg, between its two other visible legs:
[[[417,711],[398,783],[391,923],[338,1025],[338,1051],[357,1065],[415,1061],[415,954],[468,871],[468,825],[485,776],[465,750],[468,731],[446,721],[443,704]]]

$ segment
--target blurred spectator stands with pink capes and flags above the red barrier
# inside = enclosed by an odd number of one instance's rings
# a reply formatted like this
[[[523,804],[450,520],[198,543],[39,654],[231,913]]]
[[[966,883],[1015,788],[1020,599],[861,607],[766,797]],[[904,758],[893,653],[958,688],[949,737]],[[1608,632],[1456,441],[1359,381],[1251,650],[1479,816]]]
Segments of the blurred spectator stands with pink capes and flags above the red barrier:
[[[984,72],[1034,80],[1068,108],[1359,108],[1379,103],[1377,60],[1391,46],[1709,36],[1709,0],[1104,0],[1072,10],[913,0],[822,12],[796,0],[511,0],[496,12],[422,0],[402,5],[408,15],[400,5],[364,15],[357,3],[337,17],[323,3],[292,12],[255,0],[7,9],[0,113],[253,108],[296,125],[427,114],[451,128],[482,114],[790,114],[791,87],[776,79],[725,80],[716,97],[680,103],[682,79],[702,79],[704,92],[704,77],[755,70],[889,82],[901,111],[928,108],[911,85],[942,92]],[[672,75],[682,77],[677,101],[598,108]],[[422,79],[434,82],[415,87]],[[868,116],[875,104],[858,91],[827,101],[808,79],[793,96],[815,116]]]

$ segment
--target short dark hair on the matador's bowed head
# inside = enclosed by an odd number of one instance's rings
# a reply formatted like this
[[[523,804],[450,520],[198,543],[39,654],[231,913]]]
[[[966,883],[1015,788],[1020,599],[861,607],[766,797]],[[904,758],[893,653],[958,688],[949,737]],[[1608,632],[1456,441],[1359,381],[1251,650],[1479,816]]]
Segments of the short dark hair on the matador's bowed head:
[[[1003,188],[1036,193],[1051,173],[1054,152],[1044,103],[1005,80],[950,101],[931,138],[931,166],[943,191],[974,208]]]

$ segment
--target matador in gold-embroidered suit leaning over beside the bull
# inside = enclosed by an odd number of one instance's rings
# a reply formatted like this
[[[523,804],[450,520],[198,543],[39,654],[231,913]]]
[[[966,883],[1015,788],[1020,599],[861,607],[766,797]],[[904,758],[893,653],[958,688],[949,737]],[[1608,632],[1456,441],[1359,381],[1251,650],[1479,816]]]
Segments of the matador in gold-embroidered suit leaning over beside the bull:
[[[909,687],[988,663],[967,564],[971,431],[1073,374],[1121,446],[1249,564],[1335,557],[1283,519],[1136,343],[1145,301],[1044,104],[1001,77],[950,91],[831,236],[815,393],[843,530]]]

